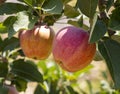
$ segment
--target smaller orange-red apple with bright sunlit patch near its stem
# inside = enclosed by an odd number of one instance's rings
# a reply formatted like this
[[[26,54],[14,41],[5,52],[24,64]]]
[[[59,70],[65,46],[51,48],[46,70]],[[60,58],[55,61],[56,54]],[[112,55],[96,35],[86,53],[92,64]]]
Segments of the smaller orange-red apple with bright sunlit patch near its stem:
[[[32,30],[21,30],[19,33],[20,46],[25,56],[34,59],[46,59],[52,50],[54,31],[41,25]]]

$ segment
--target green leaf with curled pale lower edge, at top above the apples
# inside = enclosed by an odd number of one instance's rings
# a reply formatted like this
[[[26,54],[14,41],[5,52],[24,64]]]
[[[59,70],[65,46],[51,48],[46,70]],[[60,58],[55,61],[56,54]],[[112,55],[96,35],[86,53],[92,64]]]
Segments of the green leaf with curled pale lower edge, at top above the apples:
[[[63,10],[63,4],[61,0],[47,0],[42,9],[43,11],[51,14],[61,14]]]

